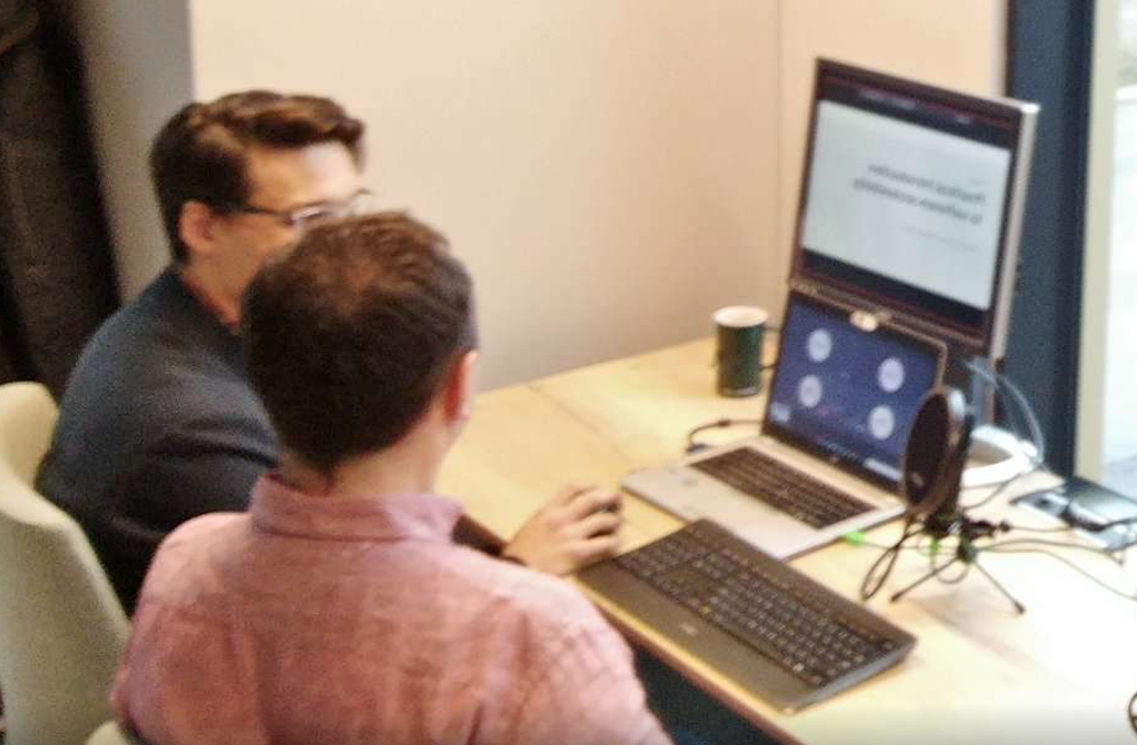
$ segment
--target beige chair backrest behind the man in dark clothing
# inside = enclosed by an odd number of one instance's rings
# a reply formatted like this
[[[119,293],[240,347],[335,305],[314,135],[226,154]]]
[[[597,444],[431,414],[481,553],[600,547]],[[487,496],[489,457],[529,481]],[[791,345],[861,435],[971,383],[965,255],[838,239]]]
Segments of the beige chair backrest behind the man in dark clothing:
[[[43,386],[0,385],[6,745],[82,745],[111,717],[107,697],[130,631],[82,528],[33,487],[57,415]]]

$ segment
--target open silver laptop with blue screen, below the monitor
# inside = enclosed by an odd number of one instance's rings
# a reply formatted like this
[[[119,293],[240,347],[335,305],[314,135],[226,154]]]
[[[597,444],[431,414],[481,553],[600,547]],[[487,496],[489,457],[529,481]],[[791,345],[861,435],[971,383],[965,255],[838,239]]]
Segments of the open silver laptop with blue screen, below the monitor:
[[[783,318],[761,434],[622,482],[779,559],[904,511],[904,449],[947,358],[939,341],[792,285]]]

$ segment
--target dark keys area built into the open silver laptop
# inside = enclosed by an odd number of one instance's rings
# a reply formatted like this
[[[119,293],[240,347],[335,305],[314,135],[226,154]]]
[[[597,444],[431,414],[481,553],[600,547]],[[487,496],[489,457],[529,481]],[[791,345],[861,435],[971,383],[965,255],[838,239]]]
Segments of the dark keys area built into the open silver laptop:
[[[750,447],[729,450],[690,467],[814,528],[827,528],[873,509]]]

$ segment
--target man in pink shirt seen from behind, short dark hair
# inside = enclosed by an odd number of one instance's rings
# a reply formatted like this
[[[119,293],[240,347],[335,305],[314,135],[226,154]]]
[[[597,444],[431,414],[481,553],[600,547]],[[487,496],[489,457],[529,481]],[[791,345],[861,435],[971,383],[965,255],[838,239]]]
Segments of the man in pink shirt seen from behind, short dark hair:
[[[470,416],[470,279],[401,215],[316,226],[254,281],[282,441],[248,513],[175,530],[113,700],[153,745],[665,744],[626,644],[565,581],[462,547],[433,493]],[[608,495],[570,489],[581,541]],[[591,514],[589,514],[591,512]]]

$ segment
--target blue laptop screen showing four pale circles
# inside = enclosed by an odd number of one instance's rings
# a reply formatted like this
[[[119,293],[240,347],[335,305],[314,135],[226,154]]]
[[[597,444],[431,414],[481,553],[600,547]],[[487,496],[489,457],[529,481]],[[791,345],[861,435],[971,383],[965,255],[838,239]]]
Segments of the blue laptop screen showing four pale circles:
[[[895,487],[944,346],[885,325],[864,330],[850,312],[790,293],[763,432]]]

